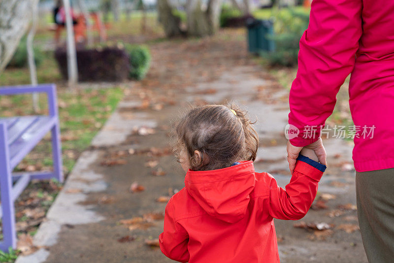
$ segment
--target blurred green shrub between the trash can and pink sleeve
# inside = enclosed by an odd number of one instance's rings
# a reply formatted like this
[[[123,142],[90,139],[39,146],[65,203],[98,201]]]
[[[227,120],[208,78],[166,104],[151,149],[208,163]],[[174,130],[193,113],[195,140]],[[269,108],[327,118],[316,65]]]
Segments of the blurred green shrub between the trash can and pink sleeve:
[[[297,64],[299,39],[308,28],[309,13],[290,9],[279,13],[275,21],[274,52],[262,52],[270,66],[295,66]]]

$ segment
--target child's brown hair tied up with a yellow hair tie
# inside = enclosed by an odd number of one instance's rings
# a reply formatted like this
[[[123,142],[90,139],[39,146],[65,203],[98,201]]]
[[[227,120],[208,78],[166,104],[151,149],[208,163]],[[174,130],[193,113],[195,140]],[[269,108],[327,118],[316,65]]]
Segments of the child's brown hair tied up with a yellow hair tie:
[[[234,111],[235,114],[232,112]],[[192,170],[214,170],[237,161],[254,161],[259,136],[247,111],[238,105],[204,105],[192,108],[174,125],[175,155],[185,149]],[[198,150],[200,158],[195,157]]]

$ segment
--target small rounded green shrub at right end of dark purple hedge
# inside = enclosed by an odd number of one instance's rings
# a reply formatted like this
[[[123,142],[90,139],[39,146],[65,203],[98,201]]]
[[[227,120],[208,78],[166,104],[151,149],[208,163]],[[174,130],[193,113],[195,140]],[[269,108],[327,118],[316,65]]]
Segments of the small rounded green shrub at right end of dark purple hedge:
[[[149,70],[151,54],[149,49],[144,46],[126,45],[126,51],[130,57],[130,77],[143,79]]]

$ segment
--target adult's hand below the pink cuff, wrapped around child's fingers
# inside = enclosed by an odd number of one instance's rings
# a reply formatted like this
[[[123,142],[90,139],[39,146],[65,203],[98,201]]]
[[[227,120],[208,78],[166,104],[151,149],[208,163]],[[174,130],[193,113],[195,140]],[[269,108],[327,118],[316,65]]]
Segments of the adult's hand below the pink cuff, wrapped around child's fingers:
[[[302,155],[314,160],[319,161],[321,164],[327,165],[327,154],[324,149],[323,141],[319,138],[314,143],[311,143],[305,147],[297,147],[287,142],[287,161],[289,162],[290,172],[293,174],[294,168],[296,167],[298,154],[301,152]],[[313,154],[312,154],[313,152]],[[317,159],[317,160],[316,160]]]

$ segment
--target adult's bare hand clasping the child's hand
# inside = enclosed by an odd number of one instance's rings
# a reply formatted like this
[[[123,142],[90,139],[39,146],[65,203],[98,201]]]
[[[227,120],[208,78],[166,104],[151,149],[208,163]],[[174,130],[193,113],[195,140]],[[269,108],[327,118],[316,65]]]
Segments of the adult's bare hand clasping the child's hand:
[[[290,143],[290,140],[287,142],[287,161],[289,162],[290,172],[293,174],[294,168],[296,167],[297,157],[299,152],[303,147],[294,146]],[[324,149],[322,138],[319,138],[314,143],[311,143],[305,148],[312,149],[315,151],[317,158],[321,164],[327,165],[327,154],[326,149]]]

